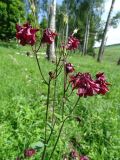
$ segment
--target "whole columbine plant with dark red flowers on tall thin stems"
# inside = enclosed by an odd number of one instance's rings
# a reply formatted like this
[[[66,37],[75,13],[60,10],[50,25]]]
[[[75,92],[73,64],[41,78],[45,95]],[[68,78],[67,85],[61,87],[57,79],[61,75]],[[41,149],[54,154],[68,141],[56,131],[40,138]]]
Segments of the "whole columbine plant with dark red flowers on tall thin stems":
[[[93,79],[90,73],[81,73],[75,72],[74,65],[68,62],[68,54],[67,50],[75,50],[79,46],[79,40],[74,37],[74,34],[72,34],[67,41],[67,44],[62,44],[61,50],[59,55],[56,56],[55,61],[55,70],[48,72],[48,80],[45,78],[42,68],[40,66],[40,62],[37,57],[37,52],[40,51],[40,47],[42,43],[51,44],[55,37],[57,36],[57,33],[54,33],[49,28],[44,30],[43,36],[40,40],[40,45],[36,47],[36,32],[38,32],[38,29],[32,28],[32,26],[28,23],[24,24],[23,26],[16,25],[16,38],[19,40],[21,45],[31,45],[32,51],[36,59],[36,63],[38,65],[39,72],[41,74],[42,80],[44,81],[44,84],[47,85],[48,93],[47,93],[47,102],[46,102],[46,113],[45,113],[45,123],[44,123],[44,147],[43,152],[40,155],[41,160],[51,160],[54,158],[54,152],[56,150],[56,146],[58,144],[59,138],[62,134],[62,130],[64,127],[65,122],[69,118],[75,118],[76,116],[73,114],[74,110],[76,109],[80,97],[88,97],[88,96],[94,96],[97,94],[105,95],[109,89],[108,85],[109,83],[106,82],[106,78],[104,76],[104,73],[97,73],[96,78]],[[34,47],[35,45],[35,47]],[[57,81],[58,77],[61,76],[63,72],[63,96],[62,96],[62,104],[60,108],[60,116],[61,120],[59,120],[56,117],[56,108],[57,108]],[[51,96],[51,82],[54,82],[54,94],[52,97],[52,114],[49,114],[50,110],[50,96]],[[71,93],[69,92],[69,88],[71,87]],[[69,103],[67,101],[68,97],[70,98],[71,94],[76,91],[77,101],[74,103],[74,106],[70,109],[70,112],[66,112],[65,105],[66,103]],[[51,142],[51,137],[54,135],[55,132],[55,126],[57,123],[60,124],[60,128],[58,131],[58,136],[56,137],[56,140],[54,144],[52,145],[52,150],[47,154],[47,149]],[[48,124],[50,124],[51,131],[48,130]],[[31,157],[34,156],[38,152],[38,150],[35,150],[35,148],[28,148],[24,151],[24,157]],[[70,152],[71,159],[78,159],[79,160],[89,160],[89,158],[86,155],[79,155],[75,150]],[[17,159],[20,159],[18,157]]]

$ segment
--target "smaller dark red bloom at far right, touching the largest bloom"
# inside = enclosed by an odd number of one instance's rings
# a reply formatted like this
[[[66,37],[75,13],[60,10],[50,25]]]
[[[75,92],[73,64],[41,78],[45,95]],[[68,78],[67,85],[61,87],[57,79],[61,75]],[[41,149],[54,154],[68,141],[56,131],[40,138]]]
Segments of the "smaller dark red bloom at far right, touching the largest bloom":
[[[105,78],[104,73],[97,73],[96,74],[96,84],[99,85],[99,92],[98,94],[106,94],[109,91],[108,85],[110,85]]]

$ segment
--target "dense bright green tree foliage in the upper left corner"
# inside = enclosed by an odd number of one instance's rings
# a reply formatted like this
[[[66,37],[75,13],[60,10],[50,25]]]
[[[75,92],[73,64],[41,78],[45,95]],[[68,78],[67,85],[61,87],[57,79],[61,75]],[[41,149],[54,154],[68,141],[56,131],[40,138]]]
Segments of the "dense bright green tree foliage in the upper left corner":
[[[15,36],[15,25],[23,21],[24,11],[22,0],[0,1],[0,39],[7,40]]]

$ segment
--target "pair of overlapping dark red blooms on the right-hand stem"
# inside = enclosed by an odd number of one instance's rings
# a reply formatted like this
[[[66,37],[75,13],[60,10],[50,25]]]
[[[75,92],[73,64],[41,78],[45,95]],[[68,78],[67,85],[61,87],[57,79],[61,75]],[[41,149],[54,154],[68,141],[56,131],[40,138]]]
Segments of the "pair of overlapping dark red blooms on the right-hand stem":
[[[105,94],[109,91],[104,73],[98,73],[97,79],[93,80],[90,73],[77,73],[70,76],[72,89],[77,89],[77,94],[80,97],[93,96],[96,94]]]

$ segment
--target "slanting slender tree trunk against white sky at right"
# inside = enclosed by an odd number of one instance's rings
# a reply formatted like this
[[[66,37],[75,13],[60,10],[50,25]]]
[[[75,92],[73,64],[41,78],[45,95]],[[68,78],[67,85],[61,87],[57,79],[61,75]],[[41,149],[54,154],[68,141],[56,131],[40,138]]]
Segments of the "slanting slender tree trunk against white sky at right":
[[[110,17],[111,17],[111,13],[113,11],[114,3],[115,3],[115,0],[112,0],[110,11],[109,11],[109,14],[108,14],[108,17],[107,17],[107,22],[106,22],[105,29],[104,29],[104,32],[103,32],[103,38],[102,38],[101,46],[100,46],[99,52],[98,52],[98,58],[97,58],[98,62],[101,62],[102,58],[103,58],[104,44],[105,44],[106,34],[107,34],[108,26],[109,26],[109,23],[110,23]]]

